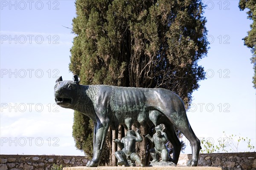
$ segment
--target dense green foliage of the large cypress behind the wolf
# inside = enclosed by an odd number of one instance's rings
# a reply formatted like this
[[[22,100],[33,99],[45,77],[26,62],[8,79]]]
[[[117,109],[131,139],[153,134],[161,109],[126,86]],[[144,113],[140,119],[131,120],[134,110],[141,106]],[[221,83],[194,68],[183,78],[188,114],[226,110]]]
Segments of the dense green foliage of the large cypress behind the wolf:
[[[209,44],[203,8],[201,0],[76,0],[70,71],[81,84],[166,88],[189,107],[205,78],[197,64]],[[75,112],[76,147],[88,155],[90,124]]]

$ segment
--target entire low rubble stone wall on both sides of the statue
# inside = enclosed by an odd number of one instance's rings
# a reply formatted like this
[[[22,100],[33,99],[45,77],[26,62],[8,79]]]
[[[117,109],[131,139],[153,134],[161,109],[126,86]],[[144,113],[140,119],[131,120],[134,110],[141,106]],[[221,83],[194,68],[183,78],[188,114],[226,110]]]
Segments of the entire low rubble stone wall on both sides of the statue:
[[[178,165],[186,165],[191,154],[181,154]],[[0,155],[0,170],[50,170],[53,164],[63,167],[85,166],[85,156]],[[222,170],[256,170],[256,153],[200,154],[198,166]]]

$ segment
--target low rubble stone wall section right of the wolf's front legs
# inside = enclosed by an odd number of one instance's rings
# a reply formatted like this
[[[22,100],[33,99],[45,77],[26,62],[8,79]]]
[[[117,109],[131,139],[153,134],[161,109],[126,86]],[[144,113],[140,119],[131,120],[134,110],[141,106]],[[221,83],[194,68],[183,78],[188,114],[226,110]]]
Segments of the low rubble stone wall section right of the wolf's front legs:
[[[186,165],[191,154],[181,154],[178,165]],[[222,170],[256,170],[256,153],[200,154],[198,166],[221,167]]]

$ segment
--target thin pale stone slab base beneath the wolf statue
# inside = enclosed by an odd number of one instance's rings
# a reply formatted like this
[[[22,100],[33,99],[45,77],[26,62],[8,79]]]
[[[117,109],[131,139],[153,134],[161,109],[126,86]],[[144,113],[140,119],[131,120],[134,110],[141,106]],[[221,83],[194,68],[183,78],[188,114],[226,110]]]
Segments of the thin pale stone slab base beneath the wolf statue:
[[[221,167],[64,167],[63,170],[221,170]]]

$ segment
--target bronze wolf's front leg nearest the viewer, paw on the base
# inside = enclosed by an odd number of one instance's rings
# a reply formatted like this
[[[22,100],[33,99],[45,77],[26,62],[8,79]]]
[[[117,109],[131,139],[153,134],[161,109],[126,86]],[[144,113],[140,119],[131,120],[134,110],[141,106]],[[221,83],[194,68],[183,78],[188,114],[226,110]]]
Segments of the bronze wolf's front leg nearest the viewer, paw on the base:
[[[97,126],[95,137],[94,138],[94,144],[93,144],[93,159],[88,161],[86,166],[87,167],[97,167],[100,161],[102,149],[105,143],[106,135],[108,133],[108,128],[109,128],[109,121],[104,120],[100,121],[97,120]]]

